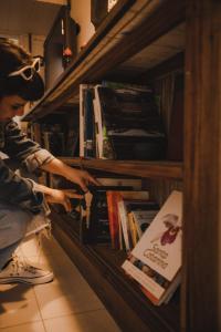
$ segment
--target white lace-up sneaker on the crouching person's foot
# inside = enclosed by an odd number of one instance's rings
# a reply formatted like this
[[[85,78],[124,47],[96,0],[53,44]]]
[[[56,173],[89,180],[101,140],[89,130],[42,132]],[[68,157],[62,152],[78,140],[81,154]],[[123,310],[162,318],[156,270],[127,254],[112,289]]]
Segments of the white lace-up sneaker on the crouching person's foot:
[[[0,283],[22,282],[40,284],[52,281],[53,277],[52,272],[32,267],[15,257],[0,271]]]

